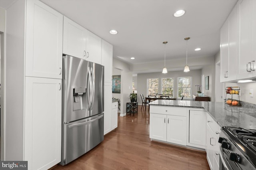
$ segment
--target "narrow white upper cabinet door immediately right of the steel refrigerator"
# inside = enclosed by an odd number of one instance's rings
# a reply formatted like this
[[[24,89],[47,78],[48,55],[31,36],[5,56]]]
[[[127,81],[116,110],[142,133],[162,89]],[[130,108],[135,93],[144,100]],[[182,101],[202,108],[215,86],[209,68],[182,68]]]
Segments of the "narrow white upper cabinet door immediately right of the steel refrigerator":
[[[101,63],[104,65],[104,82],[112,83],[112,59],[113,59],[113,45],[102,40],[102,57]]]

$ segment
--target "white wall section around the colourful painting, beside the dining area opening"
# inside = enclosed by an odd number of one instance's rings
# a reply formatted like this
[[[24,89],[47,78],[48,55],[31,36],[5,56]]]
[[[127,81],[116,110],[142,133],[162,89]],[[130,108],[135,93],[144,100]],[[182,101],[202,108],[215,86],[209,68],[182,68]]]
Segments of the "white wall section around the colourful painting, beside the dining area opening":
[[[130,102],[129,95],[132,93],[132,71],[130,65],[113,58],[113,68],[121,70],[121,94],[120,94],[120,116],[126,115],[126,103]]]

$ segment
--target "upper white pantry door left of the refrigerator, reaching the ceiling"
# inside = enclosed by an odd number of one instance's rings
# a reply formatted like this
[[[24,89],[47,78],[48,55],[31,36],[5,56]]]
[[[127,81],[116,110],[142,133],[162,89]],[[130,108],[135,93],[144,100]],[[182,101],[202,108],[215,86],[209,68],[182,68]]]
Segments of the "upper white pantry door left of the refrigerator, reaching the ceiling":
[[[25,75],[62,79],[63,15],[44,3],[28,0]]]

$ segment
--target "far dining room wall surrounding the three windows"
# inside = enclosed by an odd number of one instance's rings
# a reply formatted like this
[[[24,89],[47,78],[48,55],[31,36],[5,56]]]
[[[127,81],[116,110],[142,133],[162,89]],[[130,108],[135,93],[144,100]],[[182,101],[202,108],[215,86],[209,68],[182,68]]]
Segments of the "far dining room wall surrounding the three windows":
[[[143,94],[144,97],[147,95],[147,79],[150,78],[174,78],[174,94],[173,97],[177,97],[177,77],[182,76],[191,76],[192,77],[192,94],[196,94],[197,87],[196,84],[201,84],[201,69],[198,70],[190,70],[189,72],[184,71],[168,71],[168,73],[163,74],[162,72],[157,73],[141,73],[137,74],[137,94],[138,94],[138,102],[141,104],[140,94]],[[160,83],[160,81],[159,81]],[[158,85],[158,91],[161,91],[161,85]],[[191,98],[192,98],[191,94]]]

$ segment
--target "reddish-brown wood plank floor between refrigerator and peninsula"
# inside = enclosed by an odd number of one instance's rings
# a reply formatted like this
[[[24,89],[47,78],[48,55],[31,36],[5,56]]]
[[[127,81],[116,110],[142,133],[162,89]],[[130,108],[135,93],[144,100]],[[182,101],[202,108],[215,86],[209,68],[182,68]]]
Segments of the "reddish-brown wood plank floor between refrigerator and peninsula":
[[[206,153],[149,138],[148,111],[118,117],[118,128],[98,146],[66,166],[54,170],[210,170]],[[148,107],[147,107],[148,109]]]

